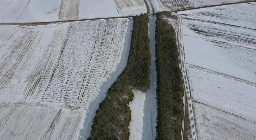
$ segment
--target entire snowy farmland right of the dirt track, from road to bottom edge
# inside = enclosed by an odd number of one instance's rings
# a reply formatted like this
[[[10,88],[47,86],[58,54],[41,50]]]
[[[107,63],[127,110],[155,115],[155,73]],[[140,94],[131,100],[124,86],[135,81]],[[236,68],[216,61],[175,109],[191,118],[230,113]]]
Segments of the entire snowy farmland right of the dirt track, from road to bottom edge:
[[[198,139],[256,138],[255,13],[256,3],[178,12]]]

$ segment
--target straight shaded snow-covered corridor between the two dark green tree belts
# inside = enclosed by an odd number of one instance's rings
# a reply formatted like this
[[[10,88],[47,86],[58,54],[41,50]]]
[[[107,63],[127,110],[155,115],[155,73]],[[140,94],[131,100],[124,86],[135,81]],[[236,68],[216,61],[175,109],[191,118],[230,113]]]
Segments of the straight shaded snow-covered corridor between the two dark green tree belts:
[[[149,16],[148,37],[150,39],[150,87],[146,92],[143,116],[142,140],[154,140],[156,137],[156,66],[155,66],[155,28],[156,16]]]

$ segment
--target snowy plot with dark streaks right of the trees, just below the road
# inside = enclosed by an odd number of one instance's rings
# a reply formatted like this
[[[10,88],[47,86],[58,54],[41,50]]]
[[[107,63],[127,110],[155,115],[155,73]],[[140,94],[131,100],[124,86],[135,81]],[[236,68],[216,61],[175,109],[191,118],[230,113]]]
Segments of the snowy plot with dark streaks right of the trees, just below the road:
[[[186,62],[256,83],[255,12],[255,3],[179,12]]]

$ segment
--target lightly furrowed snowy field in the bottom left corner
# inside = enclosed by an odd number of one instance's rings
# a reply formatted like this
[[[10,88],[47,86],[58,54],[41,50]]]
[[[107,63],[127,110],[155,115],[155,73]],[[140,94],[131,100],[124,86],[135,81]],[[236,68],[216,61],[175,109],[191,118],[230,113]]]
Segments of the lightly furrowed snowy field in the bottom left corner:
[[[83,107],[48,103],[0,103],[0,139],[77,139]]]

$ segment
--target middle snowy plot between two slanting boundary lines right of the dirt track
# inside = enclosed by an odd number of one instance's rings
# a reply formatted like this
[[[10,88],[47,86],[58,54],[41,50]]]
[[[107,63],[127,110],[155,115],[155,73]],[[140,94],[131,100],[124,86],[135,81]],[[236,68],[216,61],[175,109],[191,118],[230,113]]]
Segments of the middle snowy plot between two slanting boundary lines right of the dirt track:
[[[194,101],[256,122],[255,83],[192,65],[187,70]]]

